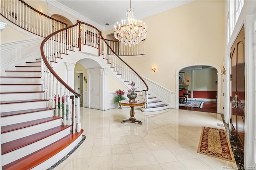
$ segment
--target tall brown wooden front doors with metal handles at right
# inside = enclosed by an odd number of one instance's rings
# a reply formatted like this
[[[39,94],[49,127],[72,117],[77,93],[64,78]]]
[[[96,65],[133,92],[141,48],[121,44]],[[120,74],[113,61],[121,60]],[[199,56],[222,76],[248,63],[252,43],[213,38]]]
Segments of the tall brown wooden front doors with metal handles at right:
[[[234,134],[238,151],[244,158],[244,26],[231,47],[231,65],[232,134]]]

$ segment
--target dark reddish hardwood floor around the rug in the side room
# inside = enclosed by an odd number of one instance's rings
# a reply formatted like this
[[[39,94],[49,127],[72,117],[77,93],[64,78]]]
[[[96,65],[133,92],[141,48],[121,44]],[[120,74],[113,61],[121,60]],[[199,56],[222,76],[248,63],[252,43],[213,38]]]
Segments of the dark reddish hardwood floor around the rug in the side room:
[[[204,101],[203,108],[179,106],[179,109],[187,111],[217,113],[217,105],[214,101]]]

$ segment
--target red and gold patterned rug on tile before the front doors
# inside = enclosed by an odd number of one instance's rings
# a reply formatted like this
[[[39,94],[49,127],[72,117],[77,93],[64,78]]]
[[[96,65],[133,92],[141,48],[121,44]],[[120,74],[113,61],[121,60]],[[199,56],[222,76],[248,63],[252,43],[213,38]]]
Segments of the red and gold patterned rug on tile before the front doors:
[[[225,129],[202,127],[197,152],[235,162]]]

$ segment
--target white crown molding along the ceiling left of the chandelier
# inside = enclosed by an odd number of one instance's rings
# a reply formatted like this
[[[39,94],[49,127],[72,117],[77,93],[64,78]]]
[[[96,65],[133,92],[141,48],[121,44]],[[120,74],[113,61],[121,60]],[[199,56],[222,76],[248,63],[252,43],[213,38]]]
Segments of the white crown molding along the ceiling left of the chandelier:
[[[72,10],[72,9],[68,8],[67,6],[64,6],[63,4],[61,4],[60,2],[58,2],[56,0],[42,0],[42,1],[45,2],[46,4],[50,5],[50,6],[54,7],[54,8],[57,8],[61,11],[66,12],[67,14],[70,14],[70,15],[76,17],[78,20],[80,20],[82,22],[88,23],[92,26],[95,26],[96,28],[98,28],[100,30],[106,31],[105,27],[102,27],[101,25],[99,25],[96,22],[90,20],[89,18],[86,18],[85,16],[82,16],[80,13],[76,12],[75,10]]]

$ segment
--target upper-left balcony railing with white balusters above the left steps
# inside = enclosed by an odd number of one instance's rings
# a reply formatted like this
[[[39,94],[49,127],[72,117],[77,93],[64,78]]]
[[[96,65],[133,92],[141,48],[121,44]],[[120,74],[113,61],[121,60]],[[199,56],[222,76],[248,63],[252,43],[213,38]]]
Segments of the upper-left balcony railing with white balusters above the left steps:
[[[1,0],[1,15],[38,36],[46,37],[68,24],[51,18],[22,0]]]

